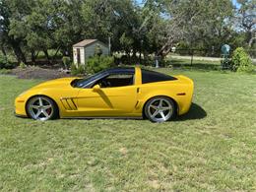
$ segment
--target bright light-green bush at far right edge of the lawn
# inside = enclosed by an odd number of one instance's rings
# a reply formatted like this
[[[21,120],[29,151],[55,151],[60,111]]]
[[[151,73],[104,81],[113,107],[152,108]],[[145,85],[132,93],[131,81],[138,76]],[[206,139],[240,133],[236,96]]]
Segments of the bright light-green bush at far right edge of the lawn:
[[[231,58],[232,70],[237,72],[253,71],[252,60],[242,47],[236,48]]]

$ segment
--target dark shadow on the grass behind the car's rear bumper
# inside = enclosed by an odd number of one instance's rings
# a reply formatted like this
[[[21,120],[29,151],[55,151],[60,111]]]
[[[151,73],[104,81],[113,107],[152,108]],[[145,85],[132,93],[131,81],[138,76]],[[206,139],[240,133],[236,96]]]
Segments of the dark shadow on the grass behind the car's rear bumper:
[[[193,120],[193,119],[202,119],[207,116],[205,109],[198,105],[197,103],[192,102],[189,111],[186,114],[177,116],[174,121],[184,121],[184,120]]]

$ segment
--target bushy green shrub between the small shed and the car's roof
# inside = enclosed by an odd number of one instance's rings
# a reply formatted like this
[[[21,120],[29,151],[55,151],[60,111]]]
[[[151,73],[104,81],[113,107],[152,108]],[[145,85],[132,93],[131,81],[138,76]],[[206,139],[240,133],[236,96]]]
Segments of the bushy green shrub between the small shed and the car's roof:
[[[97,73],[111,67],[114,58],[109,56],[94,56],[88,59],[87,71],[89,73]]]

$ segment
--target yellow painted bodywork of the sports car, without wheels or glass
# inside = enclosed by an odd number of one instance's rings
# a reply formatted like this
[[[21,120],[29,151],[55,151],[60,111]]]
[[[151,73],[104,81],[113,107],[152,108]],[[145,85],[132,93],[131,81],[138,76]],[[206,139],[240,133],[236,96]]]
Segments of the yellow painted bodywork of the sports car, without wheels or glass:
[[[32,96],[48,96],[65,117],[140,117],[147,100],[154,96],[168,96],[177,106],[178,115],[189,110],[194,84],[185,76],[175,81],[142,84],[142,72],[135,68],[134,85],[115,88],[73,88],[77,78],[62,78],[39,84],[15,99],[15,112],[27,117],[26,104]]]

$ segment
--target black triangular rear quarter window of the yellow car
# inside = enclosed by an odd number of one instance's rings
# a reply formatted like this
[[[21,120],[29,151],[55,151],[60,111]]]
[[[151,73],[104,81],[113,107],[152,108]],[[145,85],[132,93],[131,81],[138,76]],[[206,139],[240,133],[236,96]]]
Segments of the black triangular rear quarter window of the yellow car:
[[[163,82],[163,81],[171,81],[176,80],[176,78],[161,74],[155,71],[142,70],[142,83],[154,83],[154,82]]]

